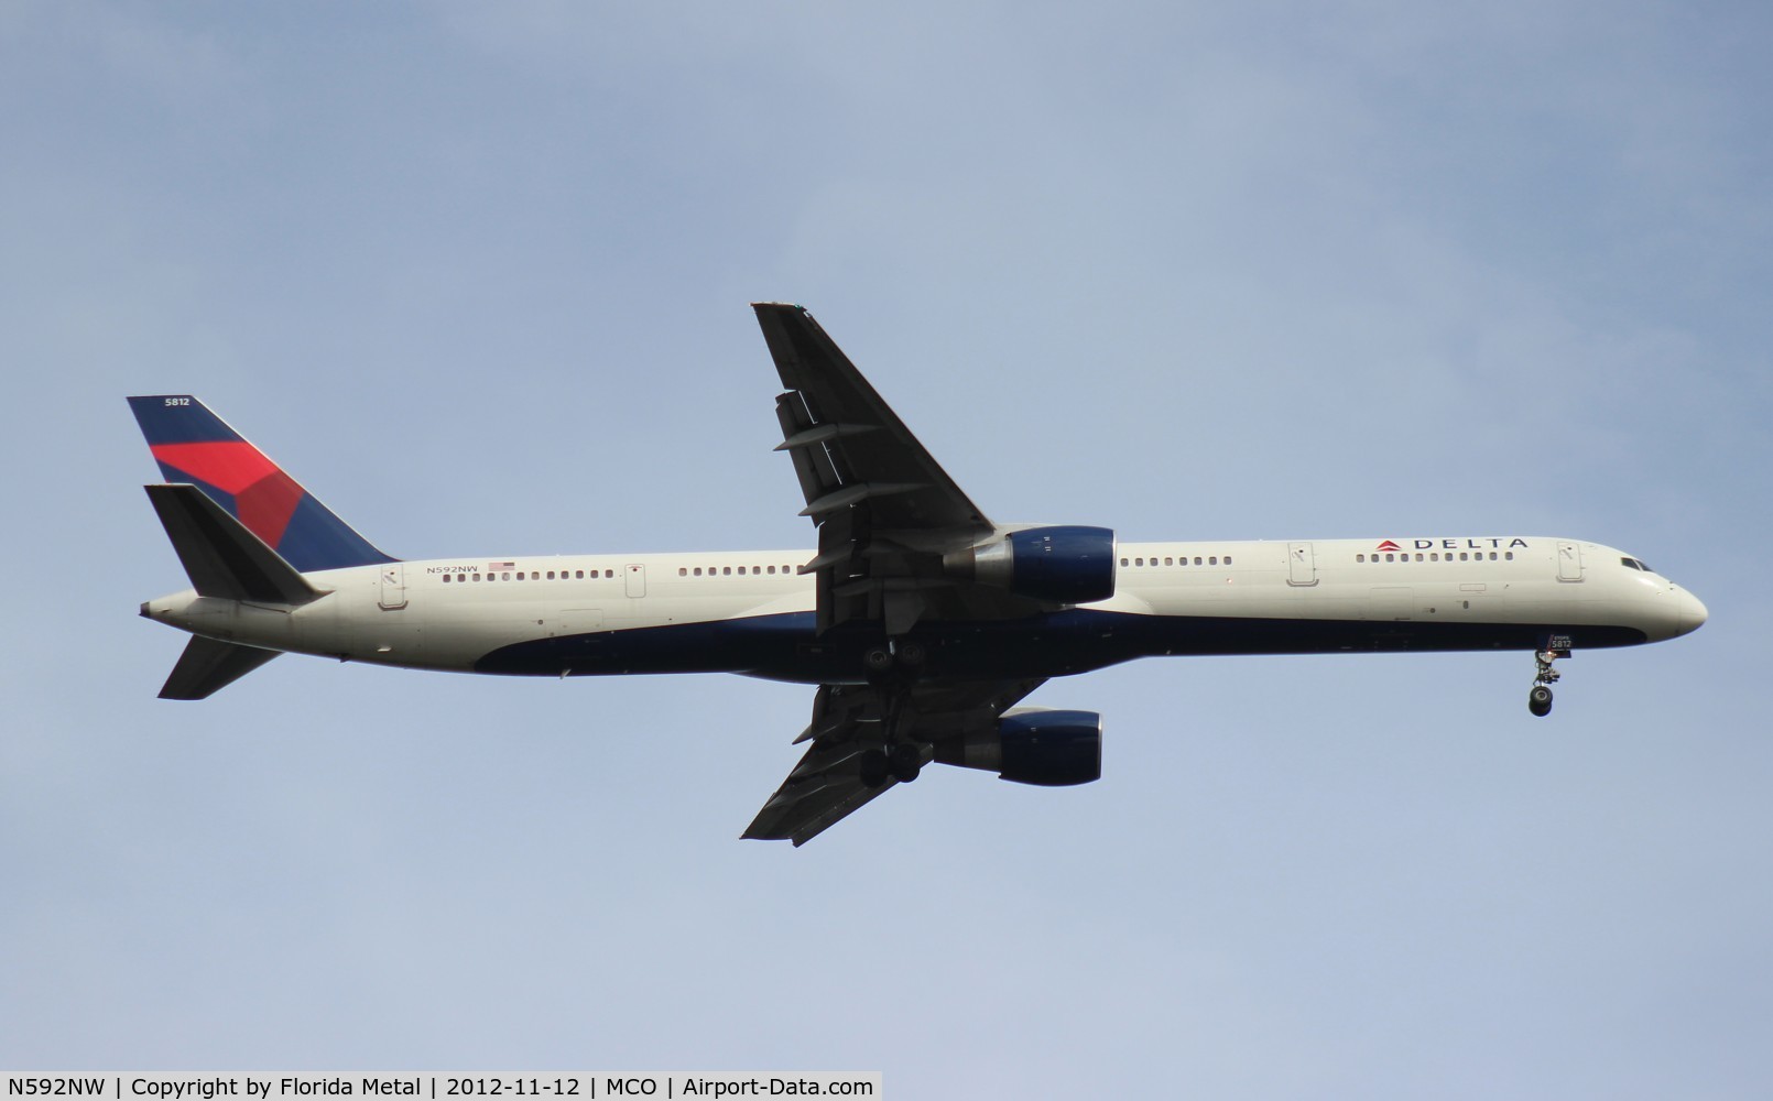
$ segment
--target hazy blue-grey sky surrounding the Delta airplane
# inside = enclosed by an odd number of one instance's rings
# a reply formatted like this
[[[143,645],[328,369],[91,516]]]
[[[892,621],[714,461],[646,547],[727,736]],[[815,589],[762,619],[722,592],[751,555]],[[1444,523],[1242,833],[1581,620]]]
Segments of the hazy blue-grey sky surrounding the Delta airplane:
[[[1773,14],[0,5],[0,1066],[1764,1097]],[[1574,535],[1576,654],[1145,661],[1099,784],[738,840],[807,688],[284,658],[154,699],[126,394],[401,557],[801,548],[746,303],[1000,519]],[[1761,626],[1757,626],[1761,624]]]

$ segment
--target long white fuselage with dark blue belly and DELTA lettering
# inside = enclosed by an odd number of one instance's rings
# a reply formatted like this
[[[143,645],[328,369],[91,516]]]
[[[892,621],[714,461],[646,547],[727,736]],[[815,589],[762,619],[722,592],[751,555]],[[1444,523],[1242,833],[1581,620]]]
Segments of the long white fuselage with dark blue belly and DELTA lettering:
[[[243,645],[410,668],[585,675],[741,672],[847,681],[814,631],[798,551],[438,558],[305,574],[287,608],[177,592],[149,619]],[[1622,551],[1573,539],[1119,543],[1110,599],[1002,624],[918,624],[957,675],[1060,675],[1151,654],[1534,649],[1656,642],[1704,606]],[[855,645],[863,640],[856,636]]]

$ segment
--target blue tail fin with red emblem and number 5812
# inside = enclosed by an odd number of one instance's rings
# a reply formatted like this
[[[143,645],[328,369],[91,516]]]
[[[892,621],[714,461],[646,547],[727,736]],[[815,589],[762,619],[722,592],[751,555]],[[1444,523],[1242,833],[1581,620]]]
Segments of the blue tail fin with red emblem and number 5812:
[[[129,410],[168,482],[202,489],[298,571],[399,560],[371,546],[195,397],[131,397]]]

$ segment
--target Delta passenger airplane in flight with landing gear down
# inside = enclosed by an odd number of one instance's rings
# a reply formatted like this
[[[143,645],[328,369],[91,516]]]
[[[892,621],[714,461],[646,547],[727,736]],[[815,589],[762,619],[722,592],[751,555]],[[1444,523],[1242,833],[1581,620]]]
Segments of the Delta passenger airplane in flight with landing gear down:
[[[754,303],[817,550],[394,558],[191,395],[131,397],[191,587],[160,690],[284,652],[447,672],[727,672],[816,684],[805,755],[745,830],[801,846],[929,764],[1101,777],[1101,716],[1019,707],[1051,677],[1193,654],[1527,651],[1528,709],[1578,649],[1699,629],[1640,558],[1537,535],[1124,543],[986,518],[798,305]]]

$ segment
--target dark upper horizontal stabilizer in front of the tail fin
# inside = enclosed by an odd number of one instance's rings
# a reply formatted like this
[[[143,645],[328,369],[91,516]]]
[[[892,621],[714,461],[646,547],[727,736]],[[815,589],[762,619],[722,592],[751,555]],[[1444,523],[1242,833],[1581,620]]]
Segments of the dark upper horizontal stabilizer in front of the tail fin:
[[[305,605],[321,596],[197,486],[144,488],[199,596],[262,605]]]

